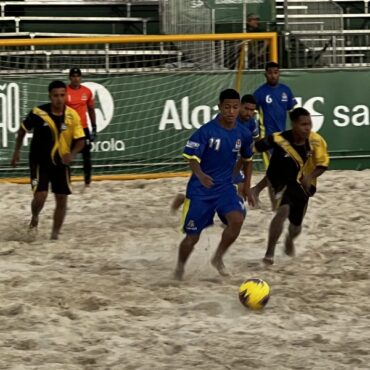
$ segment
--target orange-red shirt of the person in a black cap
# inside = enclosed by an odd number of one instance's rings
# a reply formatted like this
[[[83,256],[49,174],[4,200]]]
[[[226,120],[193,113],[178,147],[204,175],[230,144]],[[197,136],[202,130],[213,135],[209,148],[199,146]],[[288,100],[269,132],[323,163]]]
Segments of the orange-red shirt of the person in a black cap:
[[[78,89],[68,85],[66,104],[77,111],[81,118],[82,127],[87,128],[87,108],[94,108],[94,97],[91,90],[83,85],[80,85]]]

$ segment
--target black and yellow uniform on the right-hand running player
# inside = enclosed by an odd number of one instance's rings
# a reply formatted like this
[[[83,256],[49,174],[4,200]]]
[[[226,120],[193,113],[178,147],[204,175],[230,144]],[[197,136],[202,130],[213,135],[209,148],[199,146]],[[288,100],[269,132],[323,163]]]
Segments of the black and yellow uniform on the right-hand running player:
[[[311,132],[303,145],[294,144],[292,130],[274,133],[256,142],[257,151],[274,149],[267,178],[270,181],[278,206],[289,204],[289,220],[293,225],[302,224],[308,199],[316,192],[316,179],[312,180],[309,192],[300,180],[310,175],[316,167],[327,168],[329,155],[325,140]]]

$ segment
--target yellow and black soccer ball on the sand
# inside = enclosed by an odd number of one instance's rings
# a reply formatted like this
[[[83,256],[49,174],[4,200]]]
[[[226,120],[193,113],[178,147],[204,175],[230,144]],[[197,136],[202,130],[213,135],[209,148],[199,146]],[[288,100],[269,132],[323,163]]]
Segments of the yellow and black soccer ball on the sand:
[[[245,280],[239,288],[241,304],[251,310],[262,310],[270,298],[270,286],[261,279]]]

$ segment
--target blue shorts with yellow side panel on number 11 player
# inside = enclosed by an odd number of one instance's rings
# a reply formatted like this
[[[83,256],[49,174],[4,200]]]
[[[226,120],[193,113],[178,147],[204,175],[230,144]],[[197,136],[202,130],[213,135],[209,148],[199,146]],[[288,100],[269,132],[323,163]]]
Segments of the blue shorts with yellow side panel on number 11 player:
[[[182,230],[186,234],[200,234],[206,227],[213,225],[216,213],[220,220],[227,224],[226,215],[233,211],[240,212],[243,216],[246,214],[244,201],[235,187],[212,199],[186,198],[182,213]]]

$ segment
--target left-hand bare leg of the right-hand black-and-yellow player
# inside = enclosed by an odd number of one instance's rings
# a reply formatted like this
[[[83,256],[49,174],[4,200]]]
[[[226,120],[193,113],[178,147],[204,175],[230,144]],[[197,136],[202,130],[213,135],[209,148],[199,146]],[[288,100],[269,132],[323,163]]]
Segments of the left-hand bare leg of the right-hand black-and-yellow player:
[[[272,265],[274,263],[275,247],[281,236],[281,233],[283,232],[284,222],[289,216],[289,208],[289,204],[281,205],[276,210],[275,216],[271,220],[267,250],[265,257],[263,258],[263,262],[265,264]]]

